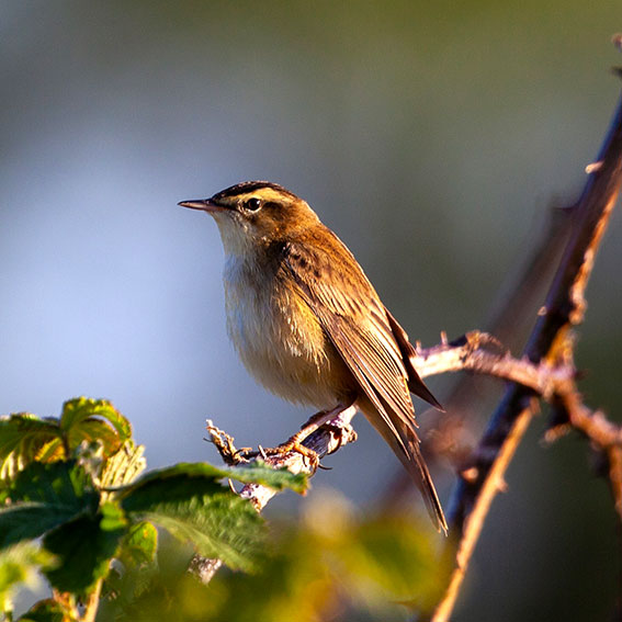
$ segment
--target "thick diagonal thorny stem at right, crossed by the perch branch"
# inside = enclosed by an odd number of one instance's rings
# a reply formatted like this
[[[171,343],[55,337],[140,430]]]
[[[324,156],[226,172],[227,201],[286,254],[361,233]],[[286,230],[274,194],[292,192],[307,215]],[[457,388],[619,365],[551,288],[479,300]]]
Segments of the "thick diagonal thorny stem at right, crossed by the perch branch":
[[[598,165],[591,169],[578,202],[573,235],[525,348],[525,355],[534,363],[546,361],[555,364],[568,347],[572,327],[583,320],[585,290],[622,179],[622,102],[618,105]],[[524,406],[524,399],[533,393],[517,384],[508,388],[473,456],[473,467],[470,470],[474,474],[473,479],[462,475],[450,509],[450,524],[455,534],[450,546],[455,547],[455,567],[449,587],[430,618],[432,622],[450,620],[480,533],[480,524],[498,490],[495,482],[502,477],[509,464],[507,456],[513,455],[531,420],[533,409]],[[615,455],[619,451],[617,446]],[[613,465],[609,457],[611,472]],[[615,471],[610,476],[612,485],[621,478],[620,473]],[[615,488],[615,485],[612,487]]]

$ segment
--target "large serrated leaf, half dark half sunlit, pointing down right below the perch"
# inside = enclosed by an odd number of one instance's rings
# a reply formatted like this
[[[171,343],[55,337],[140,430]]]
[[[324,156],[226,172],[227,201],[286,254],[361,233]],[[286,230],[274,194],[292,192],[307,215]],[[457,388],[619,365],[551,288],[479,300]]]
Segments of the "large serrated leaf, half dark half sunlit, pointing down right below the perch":
[[[142,477],[122,493],[121,504],[134,520],[155,522],[201,555],[248,570],[261,551],[263,521],[216,482],[220,477],[210,465],[178,465]]]

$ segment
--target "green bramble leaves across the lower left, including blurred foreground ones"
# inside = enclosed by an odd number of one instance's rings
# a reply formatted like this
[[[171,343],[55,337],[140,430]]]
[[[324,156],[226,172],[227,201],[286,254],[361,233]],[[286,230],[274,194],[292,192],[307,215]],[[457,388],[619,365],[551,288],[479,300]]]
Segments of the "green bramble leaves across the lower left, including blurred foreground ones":
[[[304,493],[307,479],[261,462],[180,463],[144,473],[144,448],[110,402],[65,403],[59,418],[0,419],[0,608],[22,587],[52,598],[21,622],[320,620],[344,608],[404,619],[433,598],[429,529],[358,518],[343,500],[271,525],[227,480]],[[271,529],[270,529],[270,528]],[[203,585],[192,555],[226,565]]]

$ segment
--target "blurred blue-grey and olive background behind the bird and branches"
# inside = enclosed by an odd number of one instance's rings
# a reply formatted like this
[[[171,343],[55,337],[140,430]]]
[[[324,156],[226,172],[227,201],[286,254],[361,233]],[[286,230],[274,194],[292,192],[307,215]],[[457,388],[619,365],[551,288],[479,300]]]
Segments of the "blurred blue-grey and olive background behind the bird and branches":
[[[257,387],[227,342],[216,227],[176,205],[247,179],[308,200],[414,339],[480,327],[552,200],[585,180],[620,30],[619,0],[3,1],[0,411],[110,398],[151,467],[217,460],[206,417],[240,445],[293,432],[309,412]],[[617,214],[578,344],[587,402],[613,416],[620,239]],[[398,465],[357,427],[314,485],[373,507]],[[611,611],[607,486],[583,440],[543,449],[542,431],[494,505],[459,622]],[[450,468],[436,479],[446,501]]]

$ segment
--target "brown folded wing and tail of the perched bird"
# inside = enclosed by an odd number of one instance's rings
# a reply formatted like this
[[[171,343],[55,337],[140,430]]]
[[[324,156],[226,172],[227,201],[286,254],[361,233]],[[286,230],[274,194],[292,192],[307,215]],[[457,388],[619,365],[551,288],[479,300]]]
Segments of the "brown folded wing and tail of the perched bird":
[[[409,359],[414,349],[404,329],[386,310],[346,246],[330,229],[325,228],[324,234],[321,246],[289,242],[282,267],[293,276],[298,294],[382,419],[370,420],[421,490],[437,528],[446,531],[419,449],[410,391],[432,404],[438,402]],[[326,240],[331,246],[323,250]]]

